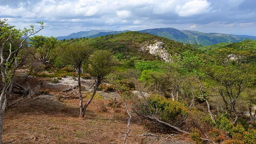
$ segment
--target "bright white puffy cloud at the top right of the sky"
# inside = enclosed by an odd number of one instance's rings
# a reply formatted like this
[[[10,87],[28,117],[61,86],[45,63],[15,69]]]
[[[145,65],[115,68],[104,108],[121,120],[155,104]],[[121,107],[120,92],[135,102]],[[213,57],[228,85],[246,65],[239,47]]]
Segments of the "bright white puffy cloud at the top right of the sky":
[[[193,0],[186,2],[184,5],[176,6],[178,16],[193,16],[196,14],[205,14],[210,12],[211,3],[207,0]]]

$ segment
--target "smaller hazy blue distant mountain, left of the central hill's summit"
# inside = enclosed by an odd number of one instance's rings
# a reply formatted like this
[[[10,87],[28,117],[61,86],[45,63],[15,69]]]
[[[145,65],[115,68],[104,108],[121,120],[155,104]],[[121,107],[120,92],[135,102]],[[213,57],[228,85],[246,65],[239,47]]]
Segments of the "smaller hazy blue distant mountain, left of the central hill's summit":
[[[106,36],[110,34],[120,34],[123,32],[128,32],[129,30],[124,31],[112,31],[112,30],[90,30],[90,31],[84,31],[84,32],[76,32],[72,33],[68,36],[58,36],[58,40],[69,40],[70,38],[95,38],[98,36]]]

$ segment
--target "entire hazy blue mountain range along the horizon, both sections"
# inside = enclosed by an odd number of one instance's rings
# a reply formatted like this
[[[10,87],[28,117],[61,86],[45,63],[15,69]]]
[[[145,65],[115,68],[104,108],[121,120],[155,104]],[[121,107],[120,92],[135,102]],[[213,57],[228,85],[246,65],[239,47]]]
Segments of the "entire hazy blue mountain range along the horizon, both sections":
[[[111,34],[120,34],[129,32],[113,31],[113,30],[90,30],[72,33],[68,36],[58,36],[58,40],[70,39],[70,38],[95,38],[98,36],[106,36]],[[188,44],[201,44],[202,46],[208,46],[211,44],[218,44],[220,42],[240,42],[245,39],[256,40],[256,36],[248,35],[234,35],[234,34],[220,34],[220,33],[204,33],[193,30],[178,30],[176,28],[153,28],[138,31],[140,33],[148,33],[155,36],[162,36],[170,40]]]

